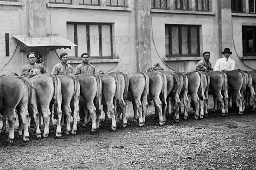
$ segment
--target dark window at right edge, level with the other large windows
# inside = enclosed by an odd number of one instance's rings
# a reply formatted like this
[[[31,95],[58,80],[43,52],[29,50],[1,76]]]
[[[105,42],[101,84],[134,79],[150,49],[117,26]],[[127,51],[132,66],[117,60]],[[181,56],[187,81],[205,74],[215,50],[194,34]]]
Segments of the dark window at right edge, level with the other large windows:
[[[256,55],[256,26],[242,26],[243,54]]]

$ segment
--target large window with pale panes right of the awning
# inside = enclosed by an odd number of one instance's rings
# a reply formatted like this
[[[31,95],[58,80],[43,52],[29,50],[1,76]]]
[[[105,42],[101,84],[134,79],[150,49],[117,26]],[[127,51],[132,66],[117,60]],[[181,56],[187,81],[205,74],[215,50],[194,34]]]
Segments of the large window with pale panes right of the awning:
[[[78,45],[67,50],[70,56],[80,57],[87,52],[91,58],[112,58],[110,23],[67,23],[67,39]]]

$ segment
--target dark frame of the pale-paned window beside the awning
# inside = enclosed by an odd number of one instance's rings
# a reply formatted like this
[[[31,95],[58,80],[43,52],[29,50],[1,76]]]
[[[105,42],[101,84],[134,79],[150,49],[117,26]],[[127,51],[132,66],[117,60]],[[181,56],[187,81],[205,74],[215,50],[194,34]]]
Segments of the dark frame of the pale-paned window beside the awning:
[[[86,25],[86,38],[87,38],[87,52],[90,55],[91,59],[113,59],[113,23],[77,23],[77,22],[67,22],[67,25],[74,26],[74,44],[78,45],[77,38],[77,25]],[[98,25],[99,26],[99,56],[91,56],[90,49],[90,25]],[[111,56],[102,56],[102,25],[110,26],[110,38],[111,38]],[[78,45],[79,46],[79,45]],[[71,57],[72,59],[79,58],[78,47],[75,47],[75,56]]]

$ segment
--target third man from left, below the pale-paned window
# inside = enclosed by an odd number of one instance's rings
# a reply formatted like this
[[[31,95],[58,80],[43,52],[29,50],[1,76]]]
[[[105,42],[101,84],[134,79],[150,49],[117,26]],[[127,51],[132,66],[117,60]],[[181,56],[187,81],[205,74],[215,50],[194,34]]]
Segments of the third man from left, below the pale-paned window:
[[[87,74],[87,73],[95,73],[95,68],[93,65],[89,63],[89,54],[83,53],[81,55],[82,62],[78,66],[76,66],[76,74]]]

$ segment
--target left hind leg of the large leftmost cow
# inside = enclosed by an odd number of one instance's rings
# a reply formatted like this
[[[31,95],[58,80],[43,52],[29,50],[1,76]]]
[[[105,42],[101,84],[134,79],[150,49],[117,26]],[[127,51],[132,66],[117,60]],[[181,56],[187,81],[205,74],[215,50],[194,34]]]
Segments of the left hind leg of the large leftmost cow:
[[[9,136],[7,141],[9,143],[12,143],[14,139],[14,128],[15,128],[15,122],[16,122],[15,108],[7,108],[6,114],[8,117],[8,124],[9,124]]]

